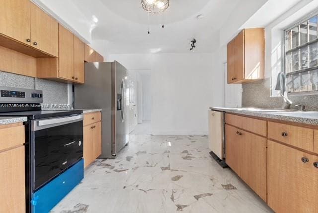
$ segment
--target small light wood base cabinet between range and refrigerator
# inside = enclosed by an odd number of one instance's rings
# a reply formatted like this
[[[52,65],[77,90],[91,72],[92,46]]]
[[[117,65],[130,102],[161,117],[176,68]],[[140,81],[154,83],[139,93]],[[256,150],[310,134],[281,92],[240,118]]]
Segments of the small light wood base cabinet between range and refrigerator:
[[[85,115],[87,119],[89,115]],[[85,123],[84,118],[84,123]],[[87,122],[87,121],[86,121]],[[89,166],[101,155],[101,121],[84,126],[84,167]]]

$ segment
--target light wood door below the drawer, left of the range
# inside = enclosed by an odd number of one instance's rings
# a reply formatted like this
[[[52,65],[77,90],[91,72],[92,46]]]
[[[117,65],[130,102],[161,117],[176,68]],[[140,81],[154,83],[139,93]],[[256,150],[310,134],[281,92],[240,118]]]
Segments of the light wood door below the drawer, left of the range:
[[[24,146],[0,153],[0,212],[25,213]]]

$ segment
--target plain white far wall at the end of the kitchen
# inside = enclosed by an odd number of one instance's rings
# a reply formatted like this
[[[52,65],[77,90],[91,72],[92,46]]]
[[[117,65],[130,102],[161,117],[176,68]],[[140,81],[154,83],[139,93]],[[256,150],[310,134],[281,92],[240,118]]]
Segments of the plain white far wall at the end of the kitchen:
[[[209,107],[224,103],[222,66],[214,60],[218,54],[128,54],[110,55],[110,60],[127,69],[151,70],[152,134],[207,134]]]

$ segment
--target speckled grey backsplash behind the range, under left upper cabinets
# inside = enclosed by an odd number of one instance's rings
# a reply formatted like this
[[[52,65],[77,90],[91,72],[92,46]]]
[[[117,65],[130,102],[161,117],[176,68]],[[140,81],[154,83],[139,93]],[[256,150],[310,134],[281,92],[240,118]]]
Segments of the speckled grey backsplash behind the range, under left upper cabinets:
[[[68,104],[68,85],[65,83],[16,75],[0,71],[0,85],[43,90],[43,104]],[[43,108],[45,110],[45,108]],[[53,110],[52,108],[47,110]]]

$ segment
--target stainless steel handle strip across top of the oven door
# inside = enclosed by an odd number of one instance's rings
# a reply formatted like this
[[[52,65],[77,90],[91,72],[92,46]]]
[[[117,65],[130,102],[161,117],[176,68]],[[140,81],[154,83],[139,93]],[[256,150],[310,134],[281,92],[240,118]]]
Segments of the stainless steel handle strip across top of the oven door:
[[[68,117],[61,117],[61,118],[36,120],[34,123],[34,131],[51,128],[54,126],[61,126],[61,125],[69,124],[69,123],[75,123],[82,120],[83,120],[82,114],[68,116]]]

